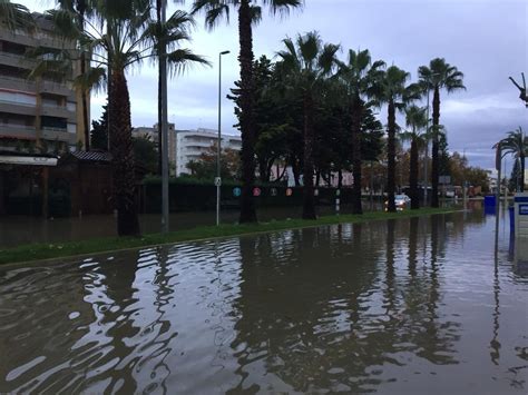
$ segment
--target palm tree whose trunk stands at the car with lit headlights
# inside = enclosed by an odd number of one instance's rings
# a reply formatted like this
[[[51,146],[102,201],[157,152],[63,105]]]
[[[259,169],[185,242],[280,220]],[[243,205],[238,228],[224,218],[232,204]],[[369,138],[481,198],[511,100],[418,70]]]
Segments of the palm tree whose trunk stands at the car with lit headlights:
[[[403,111],[408,103],[417,100],[420,95],[417,85],[405,86],[410,73],[391,66],[383,72],[378,87],[379,103],[388,105],[388,142],[387,142],[387,194],[388,211],[395,211],[395,134],[397,134],[397,111]]]

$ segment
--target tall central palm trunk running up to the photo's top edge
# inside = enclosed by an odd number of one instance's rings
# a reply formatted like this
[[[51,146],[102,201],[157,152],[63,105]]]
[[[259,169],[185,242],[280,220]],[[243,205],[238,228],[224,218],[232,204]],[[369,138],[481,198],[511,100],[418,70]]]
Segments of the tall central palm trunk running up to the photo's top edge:
[[[253,31],[250,0],[241,0],[238,6],[238,39],[241,52],[241,135],[242,135],[242,197],[238,221],[256,223],[253,186],[255,184],[255,118],[253,81]]]

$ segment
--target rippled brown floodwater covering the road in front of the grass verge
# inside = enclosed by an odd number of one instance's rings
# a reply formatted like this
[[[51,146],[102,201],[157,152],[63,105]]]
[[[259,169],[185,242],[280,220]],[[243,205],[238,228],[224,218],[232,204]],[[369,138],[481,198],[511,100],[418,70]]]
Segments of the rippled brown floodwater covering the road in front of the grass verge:
[[[497,236],[477,210],[0,268],[0,392],[526,394]]]

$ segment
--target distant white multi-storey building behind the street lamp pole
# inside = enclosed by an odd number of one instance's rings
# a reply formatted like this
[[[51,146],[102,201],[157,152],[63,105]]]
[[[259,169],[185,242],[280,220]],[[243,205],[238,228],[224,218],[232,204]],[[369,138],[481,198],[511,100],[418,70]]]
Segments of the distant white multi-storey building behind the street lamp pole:
[[[176,130],[176,175],[189,175],[187,164],[198,160],[202,154],[207,152],[211,147],[218,144],[218,131],[214,129],[198,128],[196,130]],[[242,149],[239,136],[223,135],[222,149]]]

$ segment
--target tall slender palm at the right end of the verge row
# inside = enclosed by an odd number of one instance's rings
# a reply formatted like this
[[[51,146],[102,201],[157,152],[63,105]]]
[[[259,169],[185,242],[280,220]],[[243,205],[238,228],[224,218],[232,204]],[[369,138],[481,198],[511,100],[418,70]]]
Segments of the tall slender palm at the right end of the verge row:
[[[438,201],[438,177],[440,168],[439,158],[439,131],[440,131],[440,89],[446,89],[448,93],[456,90],[466,89],[463,86],[463,73],[454,66],[446,62],[443,58],[436,58],[429,62],[428,66],[418,68],[420,83],[427,89],[433,88],[432,98],[432,168],[431,168],[431,185],[432,197],[431,207],[439,207]]]

